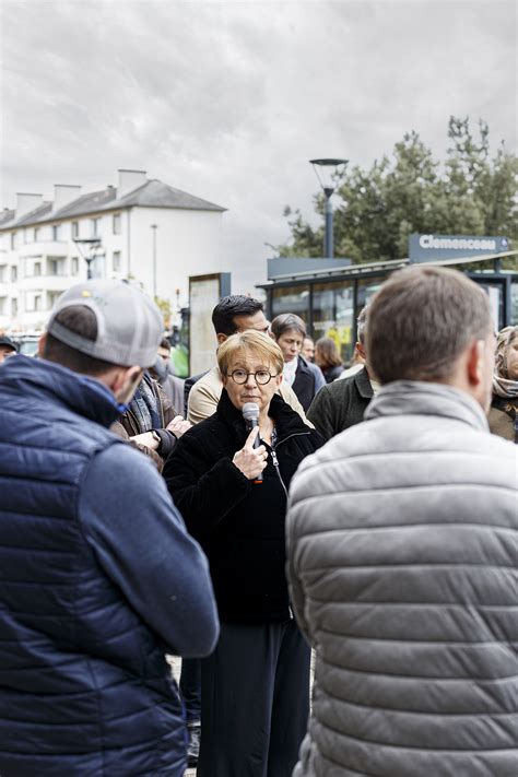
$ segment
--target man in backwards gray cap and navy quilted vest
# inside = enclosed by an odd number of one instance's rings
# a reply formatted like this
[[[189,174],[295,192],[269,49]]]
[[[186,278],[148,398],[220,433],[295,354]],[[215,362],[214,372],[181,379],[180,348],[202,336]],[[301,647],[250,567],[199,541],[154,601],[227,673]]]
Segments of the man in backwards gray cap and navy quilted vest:
[[[162,331],[138,287],[86,281],[58,299],[40,358],[0,370],[5,777],[184,774],[165,654],[216,641],[208,565],[153,464],[108,428]]]

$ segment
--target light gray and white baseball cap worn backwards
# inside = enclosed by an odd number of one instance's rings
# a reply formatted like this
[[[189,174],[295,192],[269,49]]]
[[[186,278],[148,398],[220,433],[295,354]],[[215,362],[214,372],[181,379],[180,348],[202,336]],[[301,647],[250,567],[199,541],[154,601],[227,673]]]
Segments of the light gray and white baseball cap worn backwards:
[[[56,317],[61,310],[81,305],[97,320],[97,337],[89,340],[67,329]],[[47,331],[57,340],[94,358],[123,367],[151,367],[164,331],[155,303],[138,286],[115,280],[78,283],[56,302]]]

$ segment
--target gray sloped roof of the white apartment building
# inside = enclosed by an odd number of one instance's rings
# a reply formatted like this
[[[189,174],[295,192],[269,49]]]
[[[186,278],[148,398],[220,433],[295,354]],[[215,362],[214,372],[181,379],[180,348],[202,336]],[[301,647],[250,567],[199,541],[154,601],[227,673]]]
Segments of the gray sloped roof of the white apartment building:
[[[172,208],[176,210],[216,211],[220,213],[226,210],[226,208],[221,208],[221,205],[216,205],[213,202],[188,195],[186,191],[175,189],[154,178],[120,198],[117,197],[117,189],[108,186],[102,191],[82,195],[57,211],[52,210],[51,202],[44,202],[31,213],[26,213],[17,220],[14,211],[9,211],[11,214],[9,219],[2,216],[0,212],[0,229],[62,221],[75,216],[102,213],[103,211],[123,210],[125,208]],[[4,211],[4,213],[8,213],[8,211]]]

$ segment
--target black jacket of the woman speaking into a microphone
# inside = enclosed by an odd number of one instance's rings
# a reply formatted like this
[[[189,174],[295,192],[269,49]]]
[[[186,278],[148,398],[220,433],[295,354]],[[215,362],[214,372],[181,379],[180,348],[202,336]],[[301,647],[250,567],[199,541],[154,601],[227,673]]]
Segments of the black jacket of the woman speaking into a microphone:
[[[224,622],[290,617],[284,573],[285,488],[301,461],[321,439],[278,396],[271,400],[270,415],[275,421],[274,454],[281,476],[271,454],[260,484],[249,481],[232,463],[247,431],[225,390],[214,415],[180,437],[163,472],[187,528],[209,557]]]

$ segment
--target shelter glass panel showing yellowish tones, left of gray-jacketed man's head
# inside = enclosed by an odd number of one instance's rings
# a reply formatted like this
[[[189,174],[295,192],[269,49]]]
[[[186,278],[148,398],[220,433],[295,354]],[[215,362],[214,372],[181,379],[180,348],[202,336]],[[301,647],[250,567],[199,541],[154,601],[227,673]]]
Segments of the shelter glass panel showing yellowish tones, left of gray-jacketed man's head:
[[[332,338],[344,364],[354,350],[354,282],[335,281],[313,285],[315,340]]]

